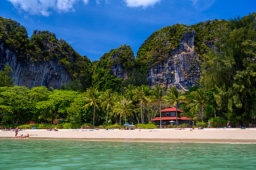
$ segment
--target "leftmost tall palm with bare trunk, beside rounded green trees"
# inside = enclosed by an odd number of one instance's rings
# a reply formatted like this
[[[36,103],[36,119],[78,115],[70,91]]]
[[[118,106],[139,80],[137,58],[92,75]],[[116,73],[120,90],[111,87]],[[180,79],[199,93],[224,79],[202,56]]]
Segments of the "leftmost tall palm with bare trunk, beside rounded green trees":
[[[88,104],[84,105],[83,107],[88,107],[89,105],[93,105],[93,126],[94,126],[95,108],[96,107],[98,108],[97,104],[100,102],[99,92],[97,90],[97,87],[87,88],[84,98],[85,98],[85,101],[88,102]]]

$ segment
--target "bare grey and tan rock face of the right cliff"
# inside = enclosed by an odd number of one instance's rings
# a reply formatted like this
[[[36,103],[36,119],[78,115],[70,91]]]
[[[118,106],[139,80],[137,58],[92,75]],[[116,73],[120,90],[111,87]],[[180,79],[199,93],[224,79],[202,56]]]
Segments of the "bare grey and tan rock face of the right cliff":
[[[163,64],[151,67],[147,71],[147,79],[150,86],[162,84],[163,86],[176,86],[179,90],[188,90],[189,86],[195,86],[200,78],[200,62],[195,52],[196,32],[185,33],[180,40],[180,46],[172,50]]]

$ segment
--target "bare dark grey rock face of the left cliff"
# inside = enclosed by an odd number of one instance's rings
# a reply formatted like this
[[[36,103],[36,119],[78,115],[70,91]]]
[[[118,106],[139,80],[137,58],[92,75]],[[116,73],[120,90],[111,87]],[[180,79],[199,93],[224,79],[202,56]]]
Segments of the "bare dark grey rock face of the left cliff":
[[[0,48],[0,70],[9,63],[16,86],[60,88],[71,79],[59,61],[22,62],[15,53],[3,48],[3,44]]]

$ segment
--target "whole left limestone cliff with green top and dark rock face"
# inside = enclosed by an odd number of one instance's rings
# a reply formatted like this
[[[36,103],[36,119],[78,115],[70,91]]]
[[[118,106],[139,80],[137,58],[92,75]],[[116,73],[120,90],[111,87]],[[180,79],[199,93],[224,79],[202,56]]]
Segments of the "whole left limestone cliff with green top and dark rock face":
[[[35,30],[28,37],[25,27],[0,16],[0,71],[9,63],[15,85],[60,88],[76,80],[84,88],[92,83],[92,63],[55,33]]]

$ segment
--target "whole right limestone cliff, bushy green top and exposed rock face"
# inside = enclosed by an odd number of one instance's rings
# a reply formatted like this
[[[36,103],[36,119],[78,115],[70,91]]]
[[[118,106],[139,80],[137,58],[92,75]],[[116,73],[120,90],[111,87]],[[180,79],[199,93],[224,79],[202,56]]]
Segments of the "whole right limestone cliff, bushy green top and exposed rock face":
[[[149,86],[162,84],[188,90],[200,79],[200,62],[208,48],[220,41],[217,31],[226,20],[212,20],[196,25],[175,24],[152,33],[137,52],[137,62],[147,73]]]

